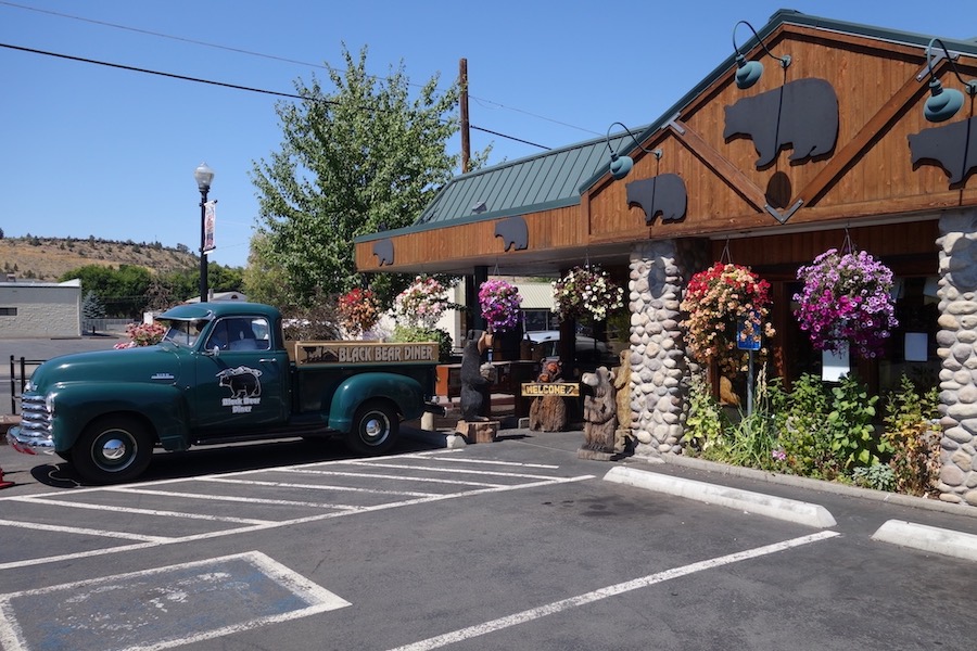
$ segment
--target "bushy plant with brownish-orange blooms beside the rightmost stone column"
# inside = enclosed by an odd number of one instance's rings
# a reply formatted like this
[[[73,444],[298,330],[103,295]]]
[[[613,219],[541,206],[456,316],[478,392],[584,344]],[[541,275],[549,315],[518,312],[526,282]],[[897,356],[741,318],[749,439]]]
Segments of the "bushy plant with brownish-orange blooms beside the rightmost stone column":
[[[886,396],[883,439],[891,449],[894,489],[908,495],[927,496],[940,473],[939,391],[923,395],[904,374],[899,391]]]

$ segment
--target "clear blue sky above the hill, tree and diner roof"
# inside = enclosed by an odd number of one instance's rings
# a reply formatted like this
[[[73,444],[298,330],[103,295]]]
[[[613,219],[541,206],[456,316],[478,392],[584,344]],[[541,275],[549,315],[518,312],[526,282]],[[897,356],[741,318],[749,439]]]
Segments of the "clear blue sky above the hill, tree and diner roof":
[[[737,21],[759,29],[784,7],[977,37],[977,3],[918,0],[0,0],[0,43],[284,93],[296,78],[325,80],[323,63],[342,67],[343,42],[354,53],[367,46],[377,76],[403,61],[416,86],[440,73],[447,87],[464,58],[474,127],[556,148],[604,136],[614,122],[658,118],[732,53]],[[257,216],[250,173],[278,149],[275,103],[283,100],[7,47],[0,89],[8,237],[94,235],[196,251],[193,170],[205,161],[218,200],[211,259],[246,263]],[[542,151],[472,131],[472,149],[490,143],[490,164]],[[449,146],[456,153],[458,138]]]

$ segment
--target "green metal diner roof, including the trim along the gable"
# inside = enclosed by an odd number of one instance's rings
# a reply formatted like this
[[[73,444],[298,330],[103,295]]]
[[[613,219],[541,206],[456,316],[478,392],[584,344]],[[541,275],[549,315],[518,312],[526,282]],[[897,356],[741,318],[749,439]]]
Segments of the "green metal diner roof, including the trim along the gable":
[[[757,30],[760,40],[765,41],[774,30],[785,24],[852,34],[921,48],[926,48],[932,38],[922,34],[846,23],[803,14],[792,9],[782,9],[771,16],[766,25]],[[951,52],[977,55],[977,39],[941,38],[941,40]],[[751,35],[748,40],[740,43],[740,49],[747,52],[756,47],[757,42],[757,38]],[[712,73],[686,92],[656,122],[634,130],[637,142],[644,142],[655,131],[668,126],[706,88],[727,74],[735,63],[736,54],[731,46],[729,56],[720,63]],[[627,144],[632,144],[627,133],[612,135],[610,146],[613,151],[618,151],[618,146],[625,139],[629,139]],[[636,149],[635,144],[630,150],[624,148],[618,153],[625,154]],[[413,226],[363,235],[356,238],[356,241],[370,241],[483,219],[497,219],[576,205],[580,203],[581,193],[607,174],[609,163],[608,139],[601,137],[465,174],[448,181]]]

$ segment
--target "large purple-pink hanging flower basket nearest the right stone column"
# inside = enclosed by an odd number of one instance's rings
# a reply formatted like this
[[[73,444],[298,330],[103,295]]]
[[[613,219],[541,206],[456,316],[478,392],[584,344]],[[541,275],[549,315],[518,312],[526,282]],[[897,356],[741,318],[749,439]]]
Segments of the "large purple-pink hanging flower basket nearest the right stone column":
[[[878,357],[896,320],[892,271],[868,253],[825,251],[797,271],[804,289],[794,316],[817,350],[847,344],[859,357]]]

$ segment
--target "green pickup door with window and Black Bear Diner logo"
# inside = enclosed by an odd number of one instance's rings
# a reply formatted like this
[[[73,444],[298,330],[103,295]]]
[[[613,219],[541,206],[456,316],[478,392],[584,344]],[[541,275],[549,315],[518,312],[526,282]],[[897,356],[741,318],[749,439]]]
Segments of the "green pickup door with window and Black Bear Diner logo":
[[[289,358],[264,317],[215,321],[196,355],[193,429],[243,430],[289,417]]]

